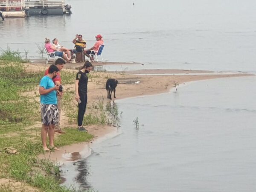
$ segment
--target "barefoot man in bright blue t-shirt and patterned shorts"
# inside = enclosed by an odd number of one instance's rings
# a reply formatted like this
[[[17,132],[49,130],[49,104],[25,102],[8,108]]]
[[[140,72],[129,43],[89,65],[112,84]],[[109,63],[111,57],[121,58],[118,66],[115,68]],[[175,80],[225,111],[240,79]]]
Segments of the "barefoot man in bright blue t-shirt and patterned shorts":
[[[45,151],[50,151],[46,145],[47,131],[49,136],[49,145],[51,149],[58,150],[54,146],[54,125],[58,124],[58,101],[56,90],[59,89],[59,85],[55,85],[52,81],[56,77],[58,67],[51,65],[49,67],[49,73],[44,76],[39,85],[40,102],[41,102],[41,139],[43,148]]]

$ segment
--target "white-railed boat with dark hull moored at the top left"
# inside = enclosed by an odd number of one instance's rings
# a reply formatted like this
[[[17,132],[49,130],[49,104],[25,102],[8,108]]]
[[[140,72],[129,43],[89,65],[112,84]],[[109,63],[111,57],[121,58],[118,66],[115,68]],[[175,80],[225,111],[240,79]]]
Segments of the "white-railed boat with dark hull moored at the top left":
[[[64,15],[71,14],[71,6],[65,0],[0,0],[0,10],[4,16],[17,15],[14,12],[25,12],[31,15]]]

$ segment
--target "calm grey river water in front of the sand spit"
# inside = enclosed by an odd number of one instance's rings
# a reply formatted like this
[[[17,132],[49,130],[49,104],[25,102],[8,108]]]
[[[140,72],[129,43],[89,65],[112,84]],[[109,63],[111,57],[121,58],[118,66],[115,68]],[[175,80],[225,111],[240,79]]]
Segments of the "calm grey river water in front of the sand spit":
[[[73,175],[64,184],[99,192],[255,192],[255,82],[197,81],[116,100],[120,134],[63,166]]]

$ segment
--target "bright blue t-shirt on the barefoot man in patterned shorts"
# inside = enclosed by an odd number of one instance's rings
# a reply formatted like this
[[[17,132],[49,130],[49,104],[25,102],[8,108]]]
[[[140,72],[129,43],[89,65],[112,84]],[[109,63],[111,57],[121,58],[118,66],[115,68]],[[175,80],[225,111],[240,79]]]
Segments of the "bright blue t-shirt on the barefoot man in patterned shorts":
[[[54,82],[52,81],[51,78],[49,78],[49,76],[44,76],[41,81],[40,81],[40,87],[44,87],[45,89],[50,89],[52,87],[54,87]],[[57,95],[56,95],[56,91],[53,90],[50,93],[46,94],[46,95],[41,95],[40,96],[40,102],[42,104],[55,104],[57,105]]]

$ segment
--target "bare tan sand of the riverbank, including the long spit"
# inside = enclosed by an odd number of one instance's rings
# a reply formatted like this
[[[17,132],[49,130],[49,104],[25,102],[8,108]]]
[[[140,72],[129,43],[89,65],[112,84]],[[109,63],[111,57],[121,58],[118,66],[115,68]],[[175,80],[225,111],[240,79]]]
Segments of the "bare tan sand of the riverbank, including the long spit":
[[[104,65],[104,64],[123,64],[123,63],[93,63],[94,66]],[[127,64],[127,63],[125,63]],[[133,63],[134,64],[134,63]],[[65,70],[76,72],[82,63],[79,64],[66,64]],[[27,64],[30,71],[33,70],[45,70],[49,65],[45,64]],[[174,88],[174,84],[186,84],[191,81],[200,81],[207,79],[216,78],[229,78],[229,77],[242,77],[251,76],[247,73],[215,73],[213,71],[204,70],[139,70],[139,71],[125,71],[125,72],[92,72],[93,76],[97,76],[96,79],[89,80],[88,82],[88,103],[90,105],[93,101],[97,100],[97,97],[104,97],[104,102],[107,103],[110,100],[107,99],[107,92],[105,90],[105,82],[107,77],[114,78],[119,81],[116,88],[116,99],[123,99],[128,97],[137,97],[145,95],[155,95],[159,93],[168,92],[170,89]],[[140,75],[144,74],[144,75]],[[151,75],[146,75],[151,74]],[[154,75],[152,75],[154,74]],[[172,75],[165,75],[172,74]],[[182,74],[182,75],[181,75]],[[185,75],[184,75],[185,74]],[[75,78],[75,77],[74,77]],[[137,82],[137,84],[135,83]],[[74,90],[74,84],[66,84],[64,89]],[[178,89],[178,86],[177,86]],[[114,101],[115,99],[113,99]],[[75,101],[74,101],[75,102]],[[87,109],[87,113],[90,109]],[[62,113],[61,126],[64,127],[69,125],[65,114]],[[71,124],[70,127],[76,128],[76,125]],[[91,125],[87,126],[90,134],[94,136],[91,141],[99,142],[110,137],[115,136],[117,129],[110,126],[102,125]],[[58,135],[58,134],[56,134]],[[58,136],[57,136],[58,137]],[[60,164],[65,161],[75,161],[80,158],[87,157],[90,155],[90,143],[79,143],[69,146],[61,147],[59,151],[54,153],[41,154],[39,158],[50,158]]]

